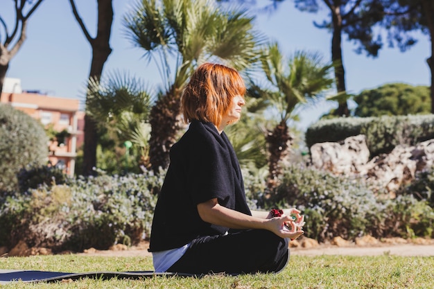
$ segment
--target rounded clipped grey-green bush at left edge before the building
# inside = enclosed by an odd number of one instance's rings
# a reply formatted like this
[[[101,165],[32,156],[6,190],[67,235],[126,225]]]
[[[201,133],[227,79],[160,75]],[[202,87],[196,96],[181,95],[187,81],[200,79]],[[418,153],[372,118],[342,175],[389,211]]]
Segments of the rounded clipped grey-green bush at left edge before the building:
[[[17,173],[48,161],[48,138],[31,116],[0,104],[0,191],[18,191]]]

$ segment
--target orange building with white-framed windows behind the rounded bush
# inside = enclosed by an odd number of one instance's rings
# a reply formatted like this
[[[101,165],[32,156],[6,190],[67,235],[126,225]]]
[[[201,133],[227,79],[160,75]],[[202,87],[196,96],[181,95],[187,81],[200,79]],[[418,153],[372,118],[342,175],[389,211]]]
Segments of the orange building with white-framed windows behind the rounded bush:
[[[77,148],[84,141],[84,112],[79,111],[80,101],[46,96],[38,91],[21,91],[20,87],[15,85],[14,89],[3,88],[0,103],[8,103],[15,109],[26,112],[46,128],[51,126],[55,132],[67,133],[64,139],[49,141],[49,161],[64,168],[65,173],[72,176]]]

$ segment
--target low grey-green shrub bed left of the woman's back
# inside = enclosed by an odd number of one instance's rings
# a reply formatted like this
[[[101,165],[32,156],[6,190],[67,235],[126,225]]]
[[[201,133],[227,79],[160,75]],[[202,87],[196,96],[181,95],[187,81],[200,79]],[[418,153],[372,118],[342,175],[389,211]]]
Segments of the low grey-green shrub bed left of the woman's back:
[[[162,177],[140,175],[70,179],[68,184],[1,196],[0,246],[19,240],[55,252],[133,245],[150,236]]]

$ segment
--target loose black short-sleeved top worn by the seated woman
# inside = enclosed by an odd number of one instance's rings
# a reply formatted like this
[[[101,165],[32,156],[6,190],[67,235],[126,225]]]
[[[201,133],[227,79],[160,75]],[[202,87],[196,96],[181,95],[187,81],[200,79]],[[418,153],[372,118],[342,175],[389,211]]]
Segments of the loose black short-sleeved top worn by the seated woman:
[[[238,159],[225,132],[212,123],[193,121],[170,152],[155,207],[150,252],[182,247],[200,236],[225,234],[228,228],[204,222],[197,204],[217,198],[221,206],[251,215]]]

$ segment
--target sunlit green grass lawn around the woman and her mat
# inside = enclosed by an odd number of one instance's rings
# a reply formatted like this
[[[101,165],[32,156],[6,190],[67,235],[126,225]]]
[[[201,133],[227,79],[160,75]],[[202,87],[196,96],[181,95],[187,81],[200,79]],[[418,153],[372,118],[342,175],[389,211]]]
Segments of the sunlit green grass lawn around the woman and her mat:
[[[150,257],[77,255],[0,258],[1,269],[62,272],[153,270]],[[434,288],[434,257],[291,256],[280,274],[238,277],[153,277],[140,280],[81,279],[58,283],[11,283],[6,288]]]

